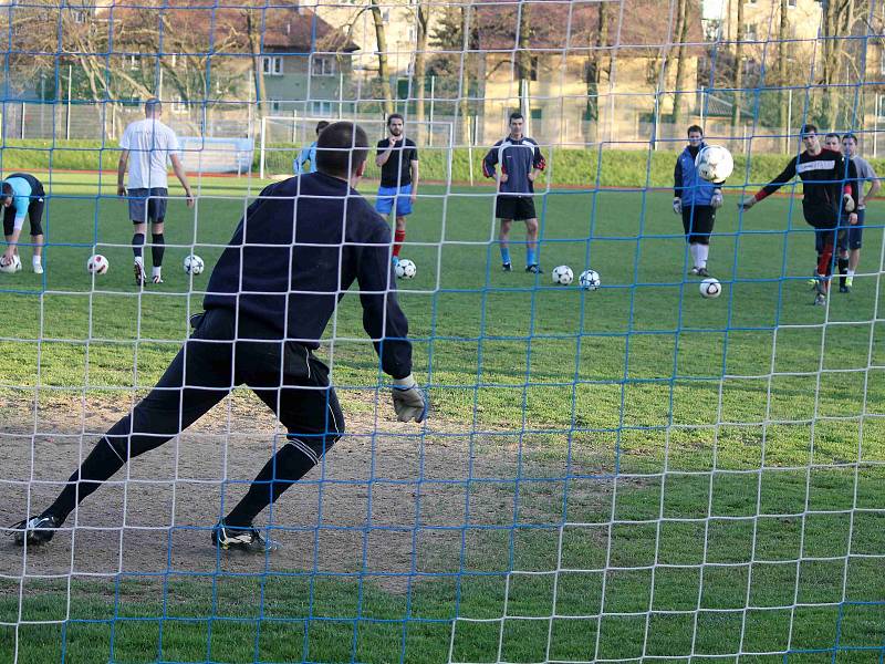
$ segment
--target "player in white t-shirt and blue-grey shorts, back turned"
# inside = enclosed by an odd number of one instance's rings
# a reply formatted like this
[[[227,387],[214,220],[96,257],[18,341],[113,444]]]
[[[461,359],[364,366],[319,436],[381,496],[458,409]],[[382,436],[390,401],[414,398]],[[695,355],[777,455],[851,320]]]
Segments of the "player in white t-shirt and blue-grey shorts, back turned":
[[[132,238],[132,250],[135,255],[135,283],[145,282],[143,250],[147,222],[150,221],[152,247],[154,259],[152,281],[163,283],[160,270],[166,240],[163,237],[163,222],[166,217],[166,198],[168,197],[168,178],[166,164],[171,162],[175,176],[185,188],[187,207],[194,207],[194,194],[187,175],[178,158],[178,138],[175,132],[159,121],[163,105],[152,97],[145,102],[145,118],[137,120],[126,127],[119,139],[119,164],[117,164],[117,194],[128,197],[129,219],[135,225]],[[123,184],[126,166],[129,170],[128,189]]]

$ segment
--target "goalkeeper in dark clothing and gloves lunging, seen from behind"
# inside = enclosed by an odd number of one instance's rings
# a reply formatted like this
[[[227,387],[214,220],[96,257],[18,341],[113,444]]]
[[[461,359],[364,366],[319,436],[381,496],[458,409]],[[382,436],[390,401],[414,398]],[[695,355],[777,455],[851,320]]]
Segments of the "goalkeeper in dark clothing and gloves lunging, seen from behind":
[[[367,154],[362,127],[334,123],[319,138],[319,173],[270,185],[249,206],[212,271],[206,312],[195,317],[190,339],[156,387],[98,440],[55,501],[12,527],[17,543],[51,540],[76,506],[127,461],[159,447],[246,384],[289,433],[242,500],[212,529],[211,540],[222,549],[274,548],[253,519],[344,433],[329,367],[314,350],[354,280],[363,325],[383,371],[394,378],[396,414],[400,422],[424,419],[427,405],[412,376],[408,322],[395,293],[391,231],[354,188]]]

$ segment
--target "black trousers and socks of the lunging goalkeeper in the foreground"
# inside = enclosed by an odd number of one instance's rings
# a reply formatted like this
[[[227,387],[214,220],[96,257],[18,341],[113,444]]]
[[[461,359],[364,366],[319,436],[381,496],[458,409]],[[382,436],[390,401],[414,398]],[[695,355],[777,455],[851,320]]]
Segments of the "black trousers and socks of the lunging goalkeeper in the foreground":
[[[235,341],[235,328],[236,341]],[[329,367],[303,344],[273,339],[233,312],[201,314],[194,334],[157,385],[104,435],[44,515],[61,521],[126,461],[159,447],[199,419],[230,391],[246,384],[289,434],[243,499],[229,526],[248,526],[313,468],[344,433],[344,415],[329,383]]]

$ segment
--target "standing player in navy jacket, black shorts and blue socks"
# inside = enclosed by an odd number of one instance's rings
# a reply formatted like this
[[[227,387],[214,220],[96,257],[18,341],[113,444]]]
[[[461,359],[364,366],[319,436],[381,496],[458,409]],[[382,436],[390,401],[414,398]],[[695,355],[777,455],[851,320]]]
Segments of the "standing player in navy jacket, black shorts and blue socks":
[[[501,220],[498,241],[501,267],[512,271],[510,263],[510,225],[525,221],[525,271],[542,272],[538,261],[538,215],[534,211],[534,180],[545,166],[541,148],[534,139],[522,135],[525,118],[521,113],[510,114],[510,135],[494,144],[482,159],[482,175],[498,177],[498,196],[494,216]],[[496,165],[501,165],[498,176]]]

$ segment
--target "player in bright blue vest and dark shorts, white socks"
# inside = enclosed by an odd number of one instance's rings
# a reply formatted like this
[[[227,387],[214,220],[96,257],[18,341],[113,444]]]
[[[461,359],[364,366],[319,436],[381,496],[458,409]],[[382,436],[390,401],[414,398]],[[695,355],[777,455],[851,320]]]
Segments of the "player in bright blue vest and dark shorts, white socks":
[[[702,179],[695,168],[695,158],[706,146],[704,129],[688,127],[688,145],[676,159],[673,173],[673,211],[683,217],[685,239],[691,252],[691,273],[709,277],[707,257],[710,253],[710,234],[716,222],[716,210],[722,207],[722,185]]]

